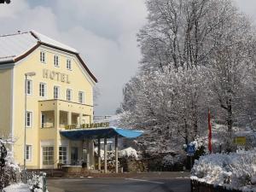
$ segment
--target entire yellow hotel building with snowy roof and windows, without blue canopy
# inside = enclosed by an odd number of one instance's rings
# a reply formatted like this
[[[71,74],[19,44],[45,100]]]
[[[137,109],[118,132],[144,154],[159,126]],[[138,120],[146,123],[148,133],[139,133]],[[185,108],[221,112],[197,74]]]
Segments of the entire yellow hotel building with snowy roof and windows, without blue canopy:
[[[0,36],[0,134],[15,138],[20,166],[25,125],[27,168],[83,159],[82,142],[60,130],[92,123],[96,82],[76,49],[34,31]]]

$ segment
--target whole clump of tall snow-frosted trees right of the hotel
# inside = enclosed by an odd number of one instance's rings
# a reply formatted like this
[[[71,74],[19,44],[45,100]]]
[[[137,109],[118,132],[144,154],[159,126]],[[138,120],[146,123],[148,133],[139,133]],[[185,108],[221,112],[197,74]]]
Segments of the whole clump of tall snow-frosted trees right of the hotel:
[[[234,123],[252,123],[256,41],[247,16],[231,0],[146,4],[141,67],[119,109],[123,125],[145,131],[138,143],[160,152],[205,137],[208,108],[230,134]]]

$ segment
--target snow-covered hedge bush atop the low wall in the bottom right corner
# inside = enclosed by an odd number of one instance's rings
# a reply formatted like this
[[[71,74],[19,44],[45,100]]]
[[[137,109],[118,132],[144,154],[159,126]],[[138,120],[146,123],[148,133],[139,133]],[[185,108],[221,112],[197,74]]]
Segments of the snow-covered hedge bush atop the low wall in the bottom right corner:
[[[191,173],[200,182],[256,191],[256,150],[202,156],[195,160]]]

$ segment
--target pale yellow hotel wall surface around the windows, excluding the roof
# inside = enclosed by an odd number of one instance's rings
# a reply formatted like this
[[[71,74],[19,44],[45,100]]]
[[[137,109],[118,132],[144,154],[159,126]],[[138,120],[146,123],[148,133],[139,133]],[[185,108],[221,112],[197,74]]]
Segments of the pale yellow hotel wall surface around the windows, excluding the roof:
[[[45,61],[40,61],[44,52]],[[54,58],[58,55],[59,67]],[[71,61],[71,70],[67,69]],[[77,55],[63,49],[41,44],[13,67],[0,68],[0,130],[1,135],[15,138],[15,160],[20,166],[24,160],[25,136],[25,73],[32,82],[32,93],[27,95],[26,111],[32,113],[31,127],[26,128],[26,145],[31,146],[31,158],[27,168],[52,168],[60,162],[59,149],[67,147],[67,160],[72,158],[72,149],[78,148],[77,159],[82,158],[82,143],[72,142],[60,136],[66,125],[92,123],[93,86],[96,83],[84,69]],[[39,96],[40,83],[46,85],[45,96]],[[59,87],[59,98],[54,99],[54,87]],[[67,89],[72,90],[71,101],[67,101]],[[79,102],[79,91],[84,92],[84,102]],[[43,122],[44,117],[44,122]],[[54,162],[43,163],[43,148],[53,147]],[[46,152],[44,152],[46,153]]]

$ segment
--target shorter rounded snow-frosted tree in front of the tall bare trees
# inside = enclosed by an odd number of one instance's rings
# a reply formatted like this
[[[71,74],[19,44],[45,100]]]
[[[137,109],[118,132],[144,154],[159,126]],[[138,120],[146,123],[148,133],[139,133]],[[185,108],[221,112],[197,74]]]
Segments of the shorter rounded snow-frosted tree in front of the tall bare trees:
[[[204,123],[199,116],[204,92],[200,71],[165,70],[131,79],[124,90],[123,125],[145,130],[142,144],[159,152],[189,143]]]

